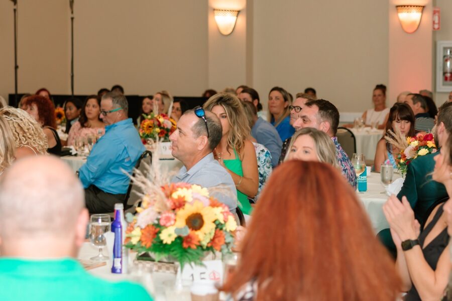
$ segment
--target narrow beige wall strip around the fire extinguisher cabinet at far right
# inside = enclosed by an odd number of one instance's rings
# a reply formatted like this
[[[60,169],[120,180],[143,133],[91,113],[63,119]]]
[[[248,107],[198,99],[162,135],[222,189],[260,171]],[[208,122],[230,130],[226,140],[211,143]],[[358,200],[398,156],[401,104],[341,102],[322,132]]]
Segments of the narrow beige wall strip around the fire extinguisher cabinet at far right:
[[[441,9],[441,29],[433,32],[433,40],[436,41],[452,41],[452,1],[435,0],[433,6]],[[436,62],[436,43],[433,44],[433,58]],[[435,63],[433,63],[435,67]],[[433,71],[433,87],[436,85],[436,70]],[[435,102],[437,105],[448,100],[448,93],[435,93]]]

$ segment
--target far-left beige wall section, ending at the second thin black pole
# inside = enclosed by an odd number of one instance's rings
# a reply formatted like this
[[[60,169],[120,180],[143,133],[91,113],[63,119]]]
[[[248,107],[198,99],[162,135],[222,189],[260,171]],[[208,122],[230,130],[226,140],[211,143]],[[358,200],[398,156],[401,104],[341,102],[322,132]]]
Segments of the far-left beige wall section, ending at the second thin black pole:
[[[19,93],[70,92],[69,2],[19,1]],[[0,2],[0,95],[14,93],[13,3]]]

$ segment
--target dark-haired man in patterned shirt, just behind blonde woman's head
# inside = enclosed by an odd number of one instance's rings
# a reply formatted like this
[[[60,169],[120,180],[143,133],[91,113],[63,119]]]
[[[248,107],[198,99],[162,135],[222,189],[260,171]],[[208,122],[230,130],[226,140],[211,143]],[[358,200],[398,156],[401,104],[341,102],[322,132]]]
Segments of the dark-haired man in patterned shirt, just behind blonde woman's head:
[[[293,127],[305,128],[313,127],[325,132],[336,145],[336,159],[342,168],[342,174],[349,183],[356,189],[357,179],[355,169],[347,154],[337,141],[336,132],[339,125],[339,111],[328,100],[311,100],[305,103],[303,109],[294,122]]]

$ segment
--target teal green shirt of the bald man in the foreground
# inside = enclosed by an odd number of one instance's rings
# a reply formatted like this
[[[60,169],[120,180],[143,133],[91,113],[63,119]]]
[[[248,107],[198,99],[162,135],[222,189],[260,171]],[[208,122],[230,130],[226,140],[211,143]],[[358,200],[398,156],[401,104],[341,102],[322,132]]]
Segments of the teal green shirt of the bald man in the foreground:
[[[71,258],[55,260],[0,259],[0,300],[151,300],[132,282],[110,282],[84,270]]]

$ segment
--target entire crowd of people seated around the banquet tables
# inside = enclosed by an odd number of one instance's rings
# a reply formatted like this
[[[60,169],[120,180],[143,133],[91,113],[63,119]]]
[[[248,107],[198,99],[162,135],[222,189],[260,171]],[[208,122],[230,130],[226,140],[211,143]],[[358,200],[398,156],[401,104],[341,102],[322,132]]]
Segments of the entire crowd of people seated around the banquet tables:
[[[313,88],[293,98],[273,87],[263,110],[259,93],[245,85],[203,96],[192,109],[164,90],[145,96],[137,123],[143,114],[171,116],[171,152],[183,166],[170,181],[221,187],[213,196],[245,215],[248,227],[236,235],[241,260],[221,290],[243,301],[397,300],[402,292],[406,300],[447,298],[452,97],[437,109],[427,90],[402,92],[387,107],[386,86],[373,90],[374,108],[362,118],[384,131],[376,172],[383,163],[397,168],[401,149],[385,137],[432,132],[439,147],[408,166],[402,190],[383,207],[389,228],[377,234],[355,193],[357,175],[337,139],[340,113],[332,101],[317,99]],[[0,278],[20,290],[2,291],[0,299],[30,298],[19,287],[43,299],[46,284],[63,272],[54,294],[95,299],[93,290],[104,287],[150,299],[141,286],[96,279],[73,260],[88,214],[124,203],[146,150],[124,89],[100,89],[63,109],[67,140],[59,137],[47,89],[26,94],[19,108],[0,108]],[[75,174],[56,156],[88,135],[98,139]]]

